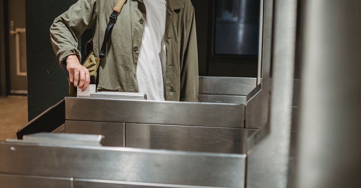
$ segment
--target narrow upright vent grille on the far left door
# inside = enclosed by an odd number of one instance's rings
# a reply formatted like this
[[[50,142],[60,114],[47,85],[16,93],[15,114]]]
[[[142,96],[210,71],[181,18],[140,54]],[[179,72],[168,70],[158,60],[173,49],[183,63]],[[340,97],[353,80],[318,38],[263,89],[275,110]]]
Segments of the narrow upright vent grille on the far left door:
[[[26,76],[26,29],[16,28],[16,72]]]

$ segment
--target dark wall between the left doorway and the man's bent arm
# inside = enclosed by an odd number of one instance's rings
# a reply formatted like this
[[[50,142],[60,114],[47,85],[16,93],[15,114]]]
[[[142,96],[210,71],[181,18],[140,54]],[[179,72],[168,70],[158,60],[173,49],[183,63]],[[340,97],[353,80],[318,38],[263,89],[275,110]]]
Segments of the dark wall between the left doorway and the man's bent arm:
[[[57,64],[49,28],[77,0],[26,0],[29,121],[68,95],[68,72]]]

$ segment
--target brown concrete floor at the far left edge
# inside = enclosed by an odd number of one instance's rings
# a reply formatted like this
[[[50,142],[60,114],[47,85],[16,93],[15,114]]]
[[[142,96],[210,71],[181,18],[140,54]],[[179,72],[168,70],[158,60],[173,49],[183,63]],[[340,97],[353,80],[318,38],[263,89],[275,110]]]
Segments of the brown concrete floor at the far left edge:
[[[27,97],[0,97],[0,140],[16,139],[16,131],[27,123]]]

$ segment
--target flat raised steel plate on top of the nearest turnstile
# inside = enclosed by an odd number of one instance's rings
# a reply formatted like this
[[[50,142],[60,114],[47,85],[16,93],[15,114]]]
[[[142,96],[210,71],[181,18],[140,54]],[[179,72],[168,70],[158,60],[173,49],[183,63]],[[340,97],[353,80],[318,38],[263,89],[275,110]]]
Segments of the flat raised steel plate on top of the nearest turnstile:
[[[103,136],[88,134],[35,133],[24,135],[22,140],[6,139],[6,141],[41,144],[101,146]]]

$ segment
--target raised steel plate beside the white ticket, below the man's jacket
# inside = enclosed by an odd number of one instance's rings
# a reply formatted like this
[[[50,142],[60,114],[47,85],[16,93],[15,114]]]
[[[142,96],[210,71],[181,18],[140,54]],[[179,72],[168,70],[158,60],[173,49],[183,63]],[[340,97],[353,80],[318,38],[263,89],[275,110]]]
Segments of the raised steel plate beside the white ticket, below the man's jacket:
[[[91,93],[90,97],[92,97],[92,98],[147,100],[147,95],[145,95],[144,93],[110,92],[110,91],[101,91],[101,92]]]

